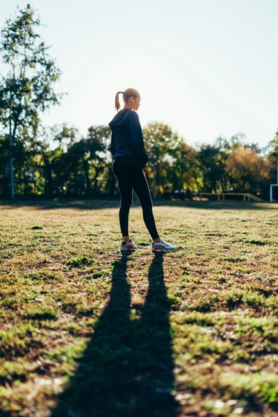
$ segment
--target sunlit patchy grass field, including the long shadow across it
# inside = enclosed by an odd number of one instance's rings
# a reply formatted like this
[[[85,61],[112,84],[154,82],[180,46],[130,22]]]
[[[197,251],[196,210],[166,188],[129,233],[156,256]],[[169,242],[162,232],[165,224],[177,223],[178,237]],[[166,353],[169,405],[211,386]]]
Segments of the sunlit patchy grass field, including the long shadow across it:
[[[0,416],[278,416],[278,206],[0,205]]]

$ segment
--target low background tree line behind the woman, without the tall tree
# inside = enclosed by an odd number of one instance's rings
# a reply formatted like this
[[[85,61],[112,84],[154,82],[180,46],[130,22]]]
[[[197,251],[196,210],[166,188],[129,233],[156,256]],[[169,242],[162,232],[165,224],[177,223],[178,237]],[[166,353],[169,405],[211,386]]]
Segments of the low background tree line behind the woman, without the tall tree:
[[[278,131],[267,148],[245,143],[242,135],[191,147],[167,124],[143,128],[149,162],[145,175],[156,197],[174,190],[208,193],[254,193],[268,198],[276,183]],[[91,126],[82,137],[63,124],[44,128],[36,138],[17,138],[13,147],[16,195],[42,197],[113,197],[117,182],[111,170],[111,130]],[[56,143],[51,149],[51,142]],[[53,146],[52,146],[53,147]],[[0,136],[0,194],[10,190],[8,138]]]

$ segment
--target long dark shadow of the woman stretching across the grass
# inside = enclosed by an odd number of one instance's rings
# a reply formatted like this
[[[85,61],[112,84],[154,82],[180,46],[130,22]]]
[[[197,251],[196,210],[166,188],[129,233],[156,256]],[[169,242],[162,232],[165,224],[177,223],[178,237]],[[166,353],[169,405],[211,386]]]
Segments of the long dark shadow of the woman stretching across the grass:
[[[140,318],[131,316],[127,262],[125,255],[114,264],[111,299],[52,417],[177,416],[163,256],[149,267]]]

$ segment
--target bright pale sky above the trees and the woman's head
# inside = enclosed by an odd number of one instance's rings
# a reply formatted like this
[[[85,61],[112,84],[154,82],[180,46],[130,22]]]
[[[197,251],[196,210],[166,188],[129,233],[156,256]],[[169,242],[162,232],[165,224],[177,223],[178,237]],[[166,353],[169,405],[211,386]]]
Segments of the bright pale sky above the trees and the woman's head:
[[[278,128],[277,0],[33,0],[63,71],[46,124],[85,134],[115,115],[118,90],[141,93],[138,114],[190,145],[242,132],[264,146]],[[0,0],[0,27],[27,1]]]

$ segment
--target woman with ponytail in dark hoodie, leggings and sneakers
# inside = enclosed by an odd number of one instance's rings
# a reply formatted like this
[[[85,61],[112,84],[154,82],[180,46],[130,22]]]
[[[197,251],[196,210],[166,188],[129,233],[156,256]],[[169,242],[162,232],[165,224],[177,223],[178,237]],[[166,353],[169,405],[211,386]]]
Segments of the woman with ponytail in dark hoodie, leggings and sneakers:
[[[119,95],[123,95],[124,108],[120,111]],[[120,227],[122,231],[121,250],[132,251],[137,248],[129,238],[129,209],[135,191],[142,206],[143,218],[149,234],[152,236],[152,251],[169,252],[177,249],[162,240],[156,230],[156,222],[152,212],[152,198],[149,186],[142,169],[145,168],[149,156],[145,152],[142,129],[136,111],[140,106],[140,93],[134,88],[117,92],[115,108],[117,115],[109,123],[112,129],[111,154],[115,156],[112,170],[117,178],[121,195]]]

